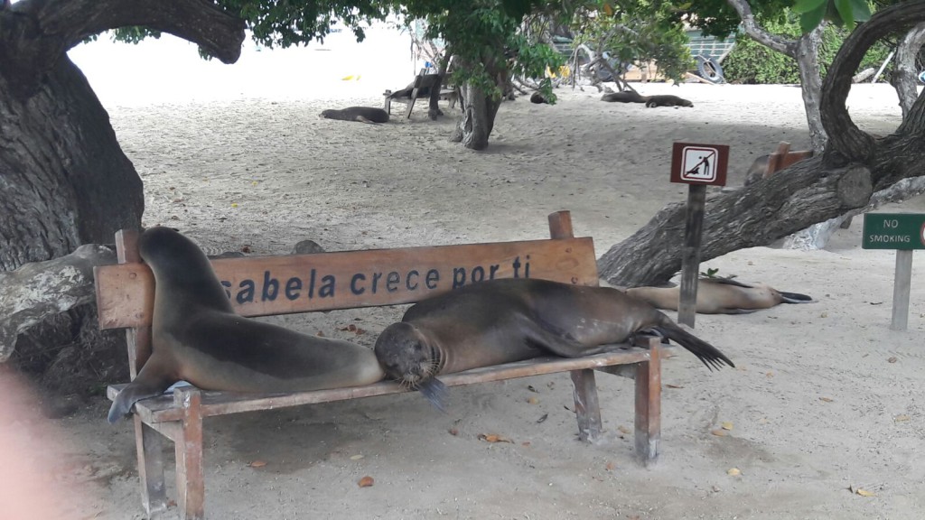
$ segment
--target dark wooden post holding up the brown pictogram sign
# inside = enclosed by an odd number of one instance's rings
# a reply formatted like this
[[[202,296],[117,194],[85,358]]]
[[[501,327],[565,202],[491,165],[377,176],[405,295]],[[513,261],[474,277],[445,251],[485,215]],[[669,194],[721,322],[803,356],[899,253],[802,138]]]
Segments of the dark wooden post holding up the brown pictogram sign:
[[[703,236],[704,205],[707,186],[691,184],[687,191],[685,250],[681,260],[681,295],[678,322],[694,327],[697,316],[697,277],[700,271],[700,240]]]

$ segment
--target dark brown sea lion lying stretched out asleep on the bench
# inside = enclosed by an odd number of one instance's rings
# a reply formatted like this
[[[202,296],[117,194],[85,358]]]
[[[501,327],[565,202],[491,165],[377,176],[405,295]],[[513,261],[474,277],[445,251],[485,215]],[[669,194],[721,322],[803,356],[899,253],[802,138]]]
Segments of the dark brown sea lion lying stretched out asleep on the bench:
[[[542,279],[494,279],[414,304],[376,339],[389,378],[421,390],[442,409],[437,376],[557,354],[607,352],[653,331],[694,353],[710,369],[734,366],[648,303],[609,287]]]

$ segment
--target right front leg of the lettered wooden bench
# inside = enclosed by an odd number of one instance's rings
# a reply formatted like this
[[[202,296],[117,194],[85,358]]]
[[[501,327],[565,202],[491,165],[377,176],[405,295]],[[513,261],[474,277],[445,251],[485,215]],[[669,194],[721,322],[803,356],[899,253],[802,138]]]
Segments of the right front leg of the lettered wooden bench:
[[[649,340],[649,360],[635,368],[635,452],[649,464],[659,457],[661,440],[660,340]]]

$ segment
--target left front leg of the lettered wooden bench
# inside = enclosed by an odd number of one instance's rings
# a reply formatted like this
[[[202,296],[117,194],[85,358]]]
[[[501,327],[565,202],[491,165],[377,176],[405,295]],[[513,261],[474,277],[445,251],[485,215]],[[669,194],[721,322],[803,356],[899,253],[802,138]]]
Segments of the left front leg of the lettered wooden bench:
[[[202,520],[205,498],[203,482],[203,396],[198,389],[174,390],[174,401],[183,408],[183,424],[174,441],[177,453],[177,507],[183,520]]]

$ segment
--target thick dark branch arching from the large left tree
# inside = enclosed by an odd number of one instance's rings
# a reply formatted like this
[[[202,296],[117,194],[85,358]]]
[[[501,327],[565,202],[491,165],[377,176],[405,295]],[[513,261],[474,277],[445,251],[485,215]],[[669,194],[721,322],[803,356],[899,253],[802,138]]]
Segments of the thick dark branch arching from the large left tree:
[[[0,73],[28,97],[68,49],[131,26],[196,43],[224,63],[238,59],[244,41],[244,20],[207,0],[22,0],[0,10]]]

